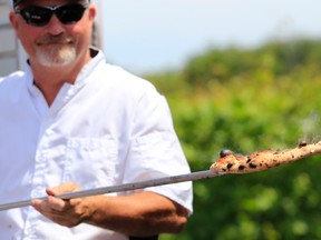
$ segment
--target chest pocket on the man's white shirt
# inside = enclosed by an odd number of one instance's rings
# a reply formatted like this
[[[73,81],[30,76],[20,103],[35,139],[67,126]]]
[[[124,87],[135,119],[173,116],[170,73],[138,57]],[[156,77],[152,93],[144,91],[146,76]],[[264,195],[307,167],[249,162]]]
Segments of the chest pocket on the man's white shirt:
[[[113,139],[69,138],[62,180],[82,189],[111,186],[116,161],[117,144]]]

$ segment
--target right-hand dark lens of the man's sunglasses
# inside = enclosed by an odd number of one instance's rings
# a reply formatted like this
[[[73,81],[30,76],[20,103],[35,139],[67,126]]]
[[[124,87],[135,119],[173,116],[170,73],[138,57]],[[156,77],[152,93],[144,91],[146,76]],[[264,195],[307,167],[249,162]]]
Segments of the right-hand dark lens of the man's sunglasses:
[[[67,4],[56,10],[56,14],[64,24],[71,24],[79,21],[86,8],[81,4]]]

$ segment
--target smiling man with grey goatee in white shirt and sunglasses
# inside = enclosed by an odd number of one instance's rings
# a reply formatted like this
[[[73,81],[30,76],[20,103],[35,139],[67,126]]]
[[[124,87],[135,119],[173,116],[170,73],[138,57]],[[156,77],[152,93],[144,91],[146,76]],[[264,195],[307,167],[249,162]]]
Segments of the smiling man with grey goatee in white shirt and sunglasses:
[[[33,200],[0,212],[0,239],[176,233],[192,213],[191,183],[55,197],[189,171],[166,100],[89,47],[95,14],[87,0],[13,0],[28,64],[0,79],[0,202]]]

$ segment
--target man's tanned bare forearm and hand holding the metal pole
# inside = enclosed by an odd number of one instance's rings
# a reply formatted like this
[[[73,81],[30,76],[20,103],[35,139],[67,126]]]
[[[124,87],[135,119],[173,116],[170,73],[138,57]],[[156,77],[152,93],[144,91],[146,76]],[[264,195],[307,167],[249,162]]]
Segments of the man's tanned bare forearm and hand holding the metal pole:
[[[129,196],[94,196],[62,200],[55,196],[79,191],[72,182],[48,188],[46,200],[32,200],[32,206],[54,222],[75,227],[89,223],[127,236],[178,233],[186,223],[188,211],[158,193],[143,191]]]

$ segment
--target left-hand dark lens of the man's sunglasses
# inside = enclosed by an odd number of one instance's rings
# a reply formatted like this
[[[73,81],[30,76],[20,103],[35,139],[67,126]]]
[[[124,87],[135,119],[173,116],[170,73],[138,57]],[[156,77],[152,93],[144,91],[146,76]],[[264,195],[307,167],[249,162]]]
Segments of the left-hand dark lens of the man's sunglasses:
[[[38,6],[30,6],[21,10],[23,19],[32,26],[45,26],[49,22],[52,12]]]

